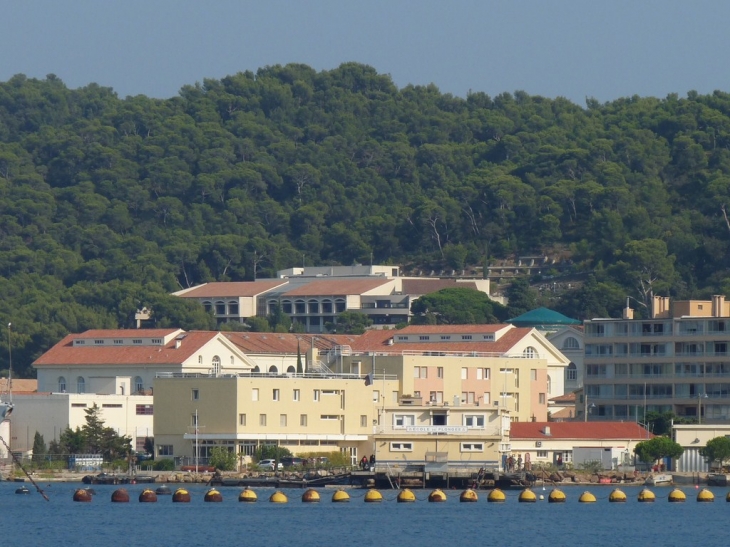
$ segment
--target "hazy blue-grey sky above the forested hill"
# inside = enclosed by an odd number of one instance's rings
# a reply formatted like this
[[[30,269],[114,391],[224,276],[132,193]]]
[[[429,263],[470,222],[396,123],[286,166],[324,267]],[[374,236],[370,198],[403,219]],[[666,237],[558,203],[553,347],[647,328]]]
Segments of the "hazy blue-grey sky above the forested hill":
[[[0,0],[0,81],[124,97],[291,62],[399,87],[608,101],[730,91],[727,0]]]

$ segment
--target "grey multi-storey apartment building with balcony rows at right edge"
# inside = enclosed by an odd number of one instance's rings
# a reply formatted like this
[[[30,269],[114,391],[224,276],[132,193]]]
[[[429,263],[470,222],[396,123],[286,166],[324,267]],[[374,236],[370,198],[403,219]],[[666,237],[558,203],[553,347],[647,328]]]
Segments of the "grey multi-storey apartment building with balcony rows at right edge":
[[[647,319],[628,305],[620,319],[585,331],[585,393],[579,419],[643,421],[649,411],[730,418],[730,303],[654,297]]]

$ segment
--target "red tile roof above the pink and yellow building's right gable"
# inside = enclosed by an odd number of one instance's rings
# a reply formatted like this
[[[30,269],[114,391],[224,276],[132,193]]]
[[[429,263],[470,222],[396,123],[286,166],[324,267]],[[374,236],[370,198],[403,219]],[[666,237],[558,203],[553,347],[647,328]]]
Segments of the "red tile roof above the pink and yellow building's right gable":
[[[442,326],[442,325],[438,325]],[[450,325],[443,325],[449,327]],[[420,332],[493,332],[481,330],[469,330],[474,327],[498,327],[503,328],[504,325],[454,325],[460,327],[456,331],[410,331],[410,334]],[[464,329],[466,327],[466,329]],[[511,328],[505,334],[499,337],[495,342],[474,341],[474,342],[449,342],[438,340],[435,342],[394,342],[389,344],[388,341],[397,337],[399,334],[409,332],[409,329],[416,327],[406,327],[400,330],[370,330],[361,335],[355,343],[352,344],[352,350],[356,352],[390,352],[400,353],[402,351],[437,351],[437,352],[482,352],[482,353],[508,353],[520,340],[527,336],[531,328]],[[429,326],[431,328],[431,326]]]

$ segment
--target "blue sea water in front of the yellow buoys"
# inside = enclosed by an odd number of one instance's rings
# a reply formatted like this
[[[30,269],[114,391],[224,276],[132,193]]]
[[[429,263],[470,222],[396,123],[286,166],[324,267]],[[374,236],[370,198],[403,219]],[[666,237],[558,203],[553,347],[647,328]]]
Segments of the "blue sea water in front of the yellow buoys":
[[[656,487],[655,503],[639,503],[639,487],[622,486],[628,501],[609,503],[610,486],[563,488],[564,504],[548,504],[550,487],[535,488],[545,500],[518,503],[519,490],[506,491],[503,504],[487,503],[480,491],[477,503],[460,503],[458,490],[448,490],[445,503],[428,503],[428,490],[414,490],[415,503],[397,503],[397,491],[383,490],[382,503],[365,503],[365,490],[348,490],[349,503],[332,503],[334,489],[319,490],[320,503],[303,503],[303,490],[283,490],[287,504],[269,503],[273,489],[254,489],[257,503],[238,501],[240,488],[221,487],[220,503],[203,501],[204,485],[187,485],[190,503],[159,496],[140,503],[148,486],[126,485],[129,503],[112,503],[119,486],[94,486],[89,503],[73,501],[81,484],[33,486],[15,494],[18,483],[0,483],[0,544],[13,546],[726,546],[730,503],[727,490],[712,488],[714,503],[697,503],[697,490],[682,488],[686,503],[669,503],[669,487]],[[174,491],[176,485],[169,485]],[[581,504],[591,491],[597,503]]]

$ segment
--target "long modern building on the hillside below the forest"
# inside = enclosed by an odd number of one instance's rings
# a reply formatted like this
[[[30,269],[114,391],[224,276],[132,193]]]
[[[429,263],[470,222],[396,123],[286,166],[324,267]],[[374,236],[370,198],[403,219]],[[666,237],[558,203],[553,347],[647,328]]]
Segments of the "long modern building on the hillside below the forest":
[[[205,283],[173,294],[200,302],[219,322],[245,322],[281,307],[307,332],[323,333],[344,311],[364,313],[375,325],[405,323],[414,300],[448,287],[489,294],[487,279],[402,277],[395,266],[361,265],[290,268],[277,279]]]

